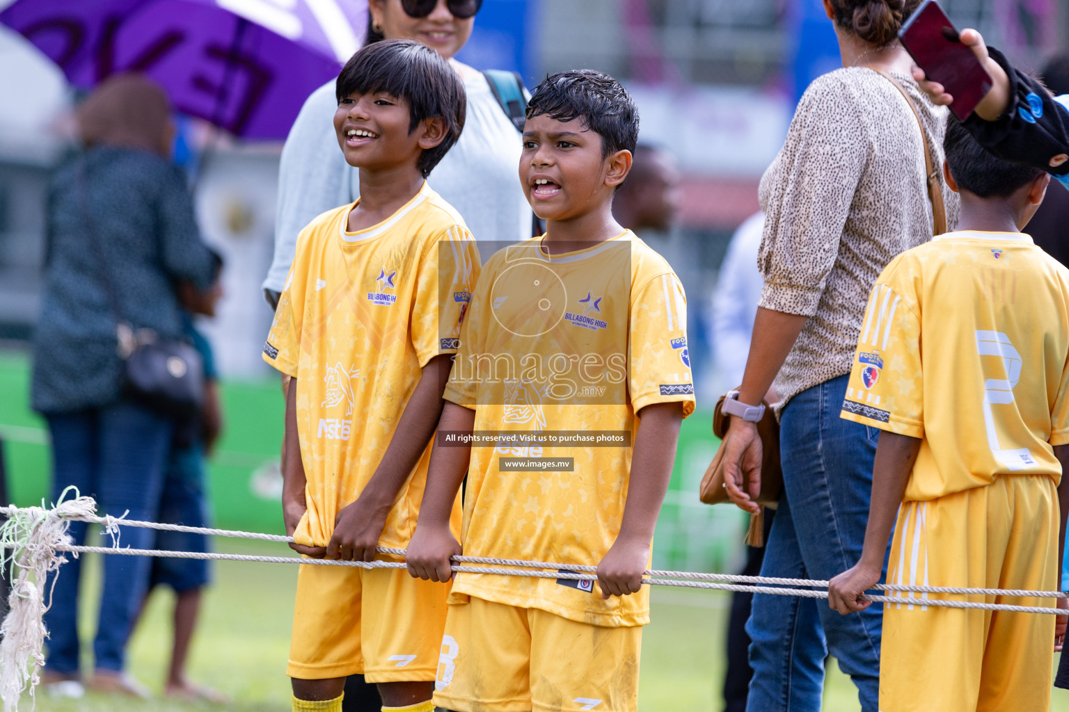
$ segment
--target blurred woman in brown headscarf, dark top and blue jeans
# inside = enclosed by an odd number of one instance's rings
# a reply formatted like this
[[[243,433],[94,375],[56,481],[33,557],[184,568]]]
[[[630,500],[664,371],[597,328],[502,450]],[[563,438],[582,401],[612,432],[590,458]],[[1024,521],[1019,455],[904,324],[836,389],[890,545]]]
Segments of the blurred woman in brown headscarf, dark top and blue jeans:
[[[129,519],[155,520],[173,424],[124,397],[117,325],[181,338],[173,284],[186,280],[206,289],[215,256],[201,241],[185,178],[168,161],[173,128],[162,90],[137,76],[111,78],[82,102],[77,118],[83,151],[60,167],[48,193],[31,400],[51,433],[53,502],[75,486],[96,499],[100,513],[128,510]],[[86,524],[74,523],[71,534],[82,543]],[[124,545],[151,542],[149,529],[123,532]],[[104,559],[93,687],[143,694],[123,668],[151,561]],[[81,690],[80,567],[78,559],[63,567],[45,619],[45,683],[72,695]]]

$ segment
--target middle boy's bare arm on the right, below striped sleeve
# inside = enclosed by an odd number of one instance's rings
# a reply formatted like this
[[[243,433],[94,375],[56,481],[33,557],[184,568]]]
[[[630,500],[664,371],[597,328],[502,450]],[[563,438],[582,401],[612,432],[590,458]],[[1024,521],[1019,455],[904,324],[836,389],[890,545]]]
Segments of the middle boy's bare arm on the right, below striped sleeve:
[[[642,587],[642,573],[650,560],[653,529],[671,479],[682,422],[683,407],[678,402],[653,404],[639,411],[620,534],[598,565],[602,598],[637,594]]]

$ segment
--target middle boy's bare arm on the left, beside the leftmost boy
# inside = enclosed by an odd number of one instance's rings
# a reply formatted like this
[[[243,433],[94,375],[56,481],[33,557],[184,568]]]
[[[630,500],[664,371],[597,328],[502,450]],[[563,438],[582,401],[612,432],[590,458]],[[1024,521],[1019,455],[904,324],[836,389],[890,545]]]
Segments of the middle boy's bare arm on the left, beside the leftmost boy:
[[[438,430],[471,432],[475,411],[447,402],[441,411]],[[435,447],[427,473],[427,488],[419,506],[419,523],[408,542],[405,560],[408,573],[424,581],[449,581],[452,569],[449,557],[460,555],[461,545],[449,531],[449,519],[456,501],[456,491],[468,469],[471,447]]]

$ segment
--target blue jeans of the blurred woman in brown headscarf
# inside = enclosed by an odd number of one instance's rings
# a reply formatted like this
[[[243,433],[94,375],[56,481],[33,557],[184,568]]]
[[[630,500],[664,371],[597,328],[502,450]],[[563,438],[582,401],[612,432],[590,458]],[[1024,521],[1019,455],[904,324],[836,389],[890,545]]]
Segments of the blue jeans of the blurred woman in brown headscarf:
[[[96,499],[98,515],[156,521],[164,466],[171,444],[171,421],[129,402],[47,415],[52,436],[52,502],[69,485]],[[86,540],[87,524],[74,522],[76,544]],[[108,539],[110,542],[110,539]],[[152,529],[123,527],[120,544],[151,549]],[[105,544],[107,545],[107,544]],[[126,640],[149,585],[152,559],[105,556],[104,592],[93,653],[96,668],[122,670]],[[53,673],[78,671],[78,583],[81,560],[67,555],[45,614],[49,631],[48,664]]]

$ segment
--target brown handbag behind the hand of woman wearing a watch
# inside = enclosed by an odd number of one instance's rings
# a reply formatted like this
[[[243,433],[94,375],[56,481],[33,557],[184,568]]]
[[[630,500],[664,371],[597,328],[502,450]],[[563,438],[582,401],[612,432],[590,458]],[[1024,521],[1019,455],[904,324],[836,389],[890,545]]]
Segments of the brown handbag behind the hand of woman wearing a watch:
[[[713,410],[713,434],[721,439],[721,446],[713,456],[713,461],[701,478],[698,496],[703,504],[721,504],[729,502],[724,488],[724,436],[728,431],[729,415],[724,414],[724,401],[727,395],[721,396]],[[768,402],[764,405],[764,415],[757,423],[757,434],[761,439],[761,491],[757,495],[757,504],[762,508],[760,513],[749,518],[749,531],[746,533],[746,543],[750,547],[764,545],[764,507],[775,509],[779,503],[779,493],[784,489],[784,471],[779,464],[779,423]]]

